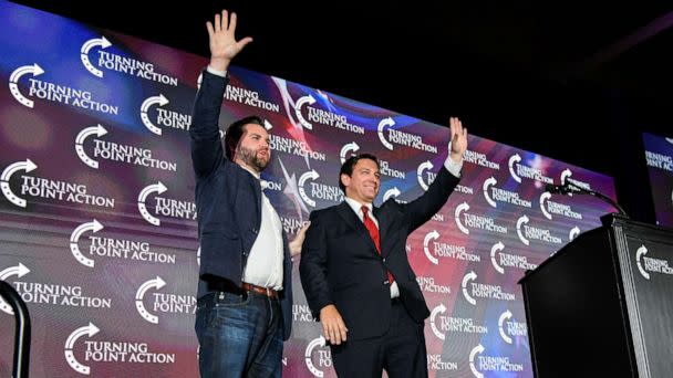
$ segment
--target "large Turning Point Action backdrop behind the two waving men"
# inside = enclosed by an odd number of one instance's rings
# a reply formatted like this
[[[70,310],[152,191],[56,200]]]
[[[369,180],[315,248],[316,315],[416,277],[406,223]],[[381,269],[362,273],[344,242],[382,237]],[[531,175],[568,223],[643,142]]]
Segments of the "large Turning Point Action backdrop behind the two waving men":
[[[0,19],[0,279],[30,311],[31,376],[197,376],[188,129],[207,59],[6,1]],[[290,239],[312,210],[343,199],[338,172],[351,154],[381,158],[376,203],[421,196],[446,158],[444,126],[231,67],[220,124],[250,114],[271,135],[262,178]],[[543,120],[531,137],[553,139],[542,130]],[[406,245],[432,311],[431,376],[530,377],[517,281],[613,211],[545,185],[614,198],[613,181],[476,135],[463,177]],[[284,375],[333,377],[297,262],[292,273]],[[0,302],[3,377],[13,327]]]

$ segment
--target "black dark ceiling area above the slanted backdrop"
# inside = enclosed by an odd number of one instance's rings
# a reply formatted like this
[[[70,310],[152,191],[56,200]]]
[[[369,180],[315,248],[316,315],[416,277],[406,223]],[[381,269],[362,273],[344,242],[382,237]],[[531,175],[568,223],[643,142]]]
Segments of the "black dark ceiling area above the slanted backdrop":
[[[255,39],[239,66],[438,124],[458,115],[618,190],[644,165],[640,133],[673,134],[670,1],[15,2],[203,56],[205,22],[227,7]]]

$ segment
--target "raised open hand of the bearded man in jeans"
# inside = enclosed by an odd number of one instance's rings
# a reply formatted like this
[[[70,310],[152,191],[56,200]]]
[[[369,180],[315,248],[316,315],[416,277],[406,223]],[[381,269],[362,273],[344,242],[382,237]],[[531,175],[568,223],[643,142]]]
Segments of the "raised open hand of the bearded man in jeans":
[[[229,18],[226,9],[221,15],[215,14],[215,23],[206,22],[206,28],[210,41],[210,67],[218,71],[226,71],[234,56],[252,42],[250,36],[236,41],[236,13]]]

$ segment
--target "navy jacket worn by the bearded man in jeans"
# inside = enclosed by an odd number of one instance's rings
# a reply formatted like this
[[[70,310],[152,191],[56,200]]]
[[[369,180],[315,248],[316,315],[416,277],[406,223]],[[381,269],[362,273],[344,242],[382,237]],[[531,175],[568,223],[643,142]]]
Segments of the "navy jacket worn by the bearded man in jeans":
[[[219,136],[219,113],[229,78],[203,73],[191,126],[191,161],[196,174],[196,209],[201,249],[198,296],[208,293],[209,281],[241,286],[242,272],[261,224],[261,186],[250,172],[229,161]],[[283,240],[283,290],[280,305],[283,337],[292,326],[292,263]]]

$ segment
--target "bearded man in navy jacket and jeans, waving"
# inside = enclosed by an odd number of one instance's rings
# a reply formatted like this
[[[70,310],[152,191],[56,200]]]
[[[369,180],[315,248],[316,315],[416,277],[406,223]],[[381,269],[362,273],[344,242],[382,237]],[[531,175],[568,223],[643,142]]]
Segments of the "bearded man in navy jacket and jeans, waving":
[[[260,172],[271,158],[263,120],[231,124],[225,151],[218,119],[227,69],[252,41],[236,41],[236,13],[207,23],[210,63],[203,72],[191,127],[198,237],[201,249],[196,335],[201,377],[280,377],[282,342],[292,324],[291,255],[303,232],[288,243],[265,196]],[[226,155],[226,156],[222,156]]]

